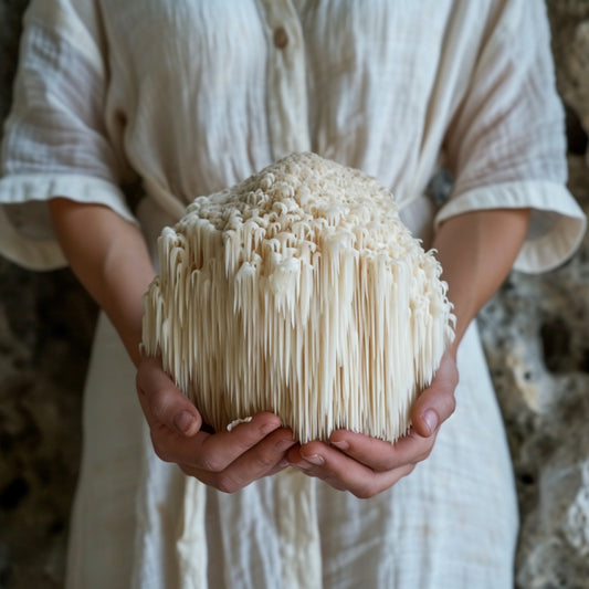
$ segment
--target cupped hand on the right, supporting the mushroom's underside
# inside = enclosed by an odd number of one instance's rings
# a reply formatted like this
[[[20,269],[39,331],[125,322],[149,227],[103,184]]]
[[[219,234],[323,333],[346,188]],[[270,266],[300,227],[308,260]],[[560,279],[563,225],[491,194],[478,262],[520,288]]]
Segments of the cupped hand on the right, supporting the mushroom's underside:
[[[397,443],[346,430],[335,431],[329,444],[313,441],[288,451],[292,466],[333,487],[368,498],[395,485],[430,455],[438,430],[454,411],[456,362],[446,353],[430,385],[411,409],[411,429]]]

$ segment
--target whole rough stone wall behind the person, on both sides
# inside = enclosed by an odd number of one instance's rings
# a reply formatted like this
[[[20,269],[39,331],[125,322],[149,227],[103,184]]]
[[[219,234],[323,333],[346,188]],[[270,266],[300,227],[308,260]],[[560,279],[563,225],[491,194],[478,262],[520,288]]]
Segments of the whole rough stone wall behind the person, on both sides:
[[[25,4],[0,0],[0,118]],[[587,212],[589,0],[548,6],[570,188]],[[95,316],[69,271],[0,259],[0,588],[62,586]],[[589,238],[554,272],[513,273],[481,326],[518,485],[517,585],[589,588]]]

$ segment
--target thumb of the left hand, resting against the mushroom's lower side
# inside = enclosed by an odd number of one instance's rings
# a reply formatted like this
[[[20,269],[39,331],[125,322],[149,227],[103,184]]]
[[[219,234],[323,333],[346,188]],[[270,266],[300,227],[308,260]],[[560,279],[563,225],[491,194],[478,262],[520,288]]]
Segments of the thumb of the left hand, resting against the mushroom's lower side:
[[[141,358],[137,368],[137,393],[150,428],[165,425],[182,435],[194,435],[202,418],[173,383],[157,358]]]

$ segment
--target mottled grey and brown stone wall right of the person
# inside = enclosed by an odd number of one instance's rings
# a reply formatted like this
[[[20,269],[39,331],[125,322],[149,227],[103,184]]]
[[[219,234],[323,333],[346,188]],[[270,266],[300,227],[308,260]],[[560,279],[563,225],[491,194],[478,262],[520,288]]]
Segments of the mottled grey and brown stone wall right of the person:
[[[589,212],[589,1],[549,0],[569,188]],[[589,236],[558,270],[513,273],[481,314],[518,485],[522,589],[589,587]]]

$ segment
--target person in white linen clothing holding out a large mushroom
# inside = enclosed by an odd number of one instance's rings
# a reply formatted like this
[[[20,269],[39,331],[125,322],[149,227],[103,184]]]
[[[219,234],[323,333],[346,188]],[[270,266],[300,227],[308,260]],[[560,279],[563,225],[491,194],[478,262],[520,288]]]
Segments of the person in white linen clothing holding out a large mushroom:
[[[473,319],[512,266],[580,242],[562,123],[541,0],[32,0],[0,248],[71,264],[104,309],[69,587],[512,587],[514,481]],[[396,444],[299,445],[271,413],[209,433],[139,353],[161,228],[304,150],[389,187],[444,267],[455,343]]]

